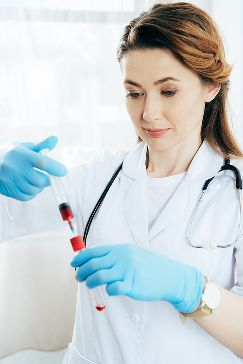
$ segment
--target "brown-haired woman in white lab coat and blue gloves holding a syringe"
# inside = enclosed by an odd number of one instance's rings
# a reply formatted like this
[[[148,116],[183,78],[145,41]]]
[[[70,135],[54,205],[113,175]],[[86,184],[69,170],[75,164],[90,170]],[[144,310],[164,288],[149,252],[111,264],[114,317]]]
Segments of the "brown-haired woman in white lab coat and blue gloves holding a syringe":
[[[243,170],[243,154],[227,122],[232,68],[218,28],[189,3],[155,4],[124,29],[118,60],[139,143],[130,151],[104,151],[63,178],[83,235],[123,161],[92,222],[87,237],[92,249],[71,262],[79,267],[81,283],[73,340],[63,363],[239,363],[243,239],[226,249],[195,249],[187,242],[204,182],[218,173],[224,158]],[[55,143],[49,138],[2,147],[0,192],[30,200],[2,196],[4,241],[59,224],[50,189],[41,192],[46,176],[33,169],[66,173],[36,153]],[[191,225],[192,244],[215,248],[234,242],[239,212],[231,174],[223,171],[211,182]],[[40,206],[47,199],[51,208],[44,211]],[[21,209],[19,221],[16,208]],[[94,309],[85,280],[90,288],[101,285],[104,312]]]

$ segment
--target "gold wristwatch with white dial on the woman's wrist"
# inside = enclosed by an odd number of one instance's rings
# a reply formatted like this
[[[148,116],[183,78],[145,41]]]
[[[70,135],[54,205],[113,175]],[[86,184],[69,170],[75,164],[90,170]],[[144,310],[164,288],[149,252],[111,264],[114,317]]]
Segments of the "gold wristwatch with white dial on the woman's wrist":
[[[199,308],[191,313],[179,312],[180,319],[183,324],[187,322],[187,317],[197,319],[207,315],[211,315],[220,305],[222,298],[220,286],[212,278],[205,278],[206,281],[203,286],[203,294]]]

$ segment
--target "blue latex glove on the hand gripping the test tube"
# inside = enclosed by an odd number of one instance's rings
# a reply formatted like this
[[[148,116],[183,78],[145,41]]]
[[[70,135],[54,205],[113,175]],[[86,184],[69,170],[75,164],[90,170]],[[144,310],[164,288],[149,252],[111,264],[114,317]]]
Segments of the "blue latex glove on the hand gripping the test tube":
[[[71,266],[79,267],[76,279],[89,288],[107,283],[108,295],[168,301],[185,313],[196,309],[205,281],[196,268],[132,244],[87,248]]]

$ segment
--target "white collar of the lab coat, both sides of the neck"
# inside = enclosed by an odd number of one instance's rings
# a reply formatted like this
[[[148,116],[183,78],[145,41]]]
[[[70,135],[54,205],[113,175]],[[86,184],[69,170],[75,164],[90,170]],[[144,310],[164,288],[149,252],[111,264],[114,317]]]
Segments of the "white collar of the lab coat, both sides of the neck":
[[[147,144],[142,141],[126,156],[122,171],[127,176],[136,179],[142,170],[146,170]],[[216,154],[204,141],[193,157],[188,169],[187,178],[190,182],[207,180],[213,177],[224,164],[224,158]]]

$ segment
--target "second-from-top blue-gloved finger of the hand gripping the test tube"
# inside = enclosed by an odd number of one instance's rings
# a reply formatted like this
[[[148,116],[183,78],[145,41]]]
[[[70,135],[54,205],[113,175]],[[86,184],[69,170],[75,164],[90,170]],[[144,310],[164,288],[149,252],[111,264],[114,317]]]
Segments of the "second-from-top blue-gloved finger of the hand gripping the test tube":
[[[77,275],[80,278],[80,281],[82,282],[89,275],[93,274],[96,271],[113,267],[113,265],[116,264],[116,262],[117,259],[115,259],[114,255],[112,256],[109,253],[103,257],[92,258],[90,260],[87,260],[81,266],[79,266]]]

